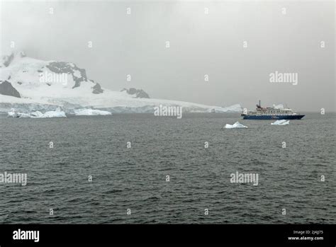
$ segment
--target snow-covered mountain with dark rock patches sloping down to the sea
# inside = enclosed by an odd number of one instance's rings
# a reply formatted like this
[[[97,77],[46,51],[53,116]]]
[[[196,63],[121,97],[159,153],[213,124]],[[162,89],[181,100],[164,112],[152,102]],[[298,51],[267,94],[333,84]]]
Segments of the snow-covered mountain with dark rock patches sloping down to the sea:
[[[186,112],[232,113],[240,105],[219,107],[149,98],[135,88],[111,91],[89,79],[85,69],[71,62],[43,61],[13,52],[0,59],[0,112],[45,112],[59,107],[66,113],[92,108],[111,113],[153,113],[158,105],[181,106]]]

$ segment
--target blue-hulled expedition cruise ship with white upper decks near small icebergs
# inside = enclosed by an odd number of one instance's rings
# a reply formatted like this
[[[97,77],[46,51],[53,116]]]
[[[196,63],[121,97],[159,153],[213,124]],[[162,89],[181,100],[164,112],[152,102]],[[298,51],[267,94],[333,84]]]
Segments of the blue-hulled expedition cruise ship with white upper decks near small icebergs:
[[[305,115],[293,113],[289,108],[262,107],[260,100],[255,112],[242,113],[243,119],[247,120],[299,120]]]

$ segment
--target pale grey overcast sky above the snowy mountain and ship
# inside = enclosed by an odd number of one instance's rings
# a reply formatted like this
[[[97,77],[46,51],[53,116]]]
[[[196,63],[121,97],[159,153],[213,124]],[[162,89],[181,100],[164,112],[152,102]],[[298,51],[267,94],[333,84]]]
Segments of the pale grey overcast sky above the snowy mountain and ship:
[[[4,1],[1,53],[15,41],[152,98],[335,111],[334,15],[334,1]],[[271,83],[275,71],[298,73],[298,85]]]

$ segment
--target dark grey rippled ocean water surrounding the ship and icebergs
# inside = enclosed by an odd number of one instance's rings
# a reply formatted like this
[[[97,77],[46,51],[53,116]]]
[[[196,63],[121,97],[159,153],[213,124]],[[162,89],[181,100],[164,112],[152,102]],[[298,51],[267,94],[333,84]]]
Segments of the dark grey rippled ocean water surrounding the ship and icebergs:
[[[237,120],[249,128],[223,129]],[[0,173],[28,174],[26,186],[0,184],[0,222],[336,224],[335,120],[0,117]],[[236,171],[259,173],[259,185],[230,183]]]

